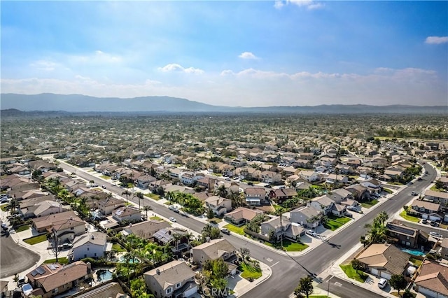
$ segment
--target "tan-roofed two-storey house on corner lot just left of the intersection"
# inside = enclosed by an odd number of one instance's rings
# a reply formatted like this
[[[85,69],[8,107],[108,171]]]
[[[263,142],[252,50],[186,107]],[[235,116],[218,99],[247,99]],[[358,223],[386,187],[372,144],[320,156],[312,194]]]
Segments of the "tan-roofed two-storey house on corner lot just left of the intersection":
[[[207,260],[223,259],[225,262],[237,260],[237,248],[226,239],[213,239],[192,249],[193,262],[204,264]],[[234,272],[235,274],[235,272]],[[233,274],[232,274],[233,275]]]

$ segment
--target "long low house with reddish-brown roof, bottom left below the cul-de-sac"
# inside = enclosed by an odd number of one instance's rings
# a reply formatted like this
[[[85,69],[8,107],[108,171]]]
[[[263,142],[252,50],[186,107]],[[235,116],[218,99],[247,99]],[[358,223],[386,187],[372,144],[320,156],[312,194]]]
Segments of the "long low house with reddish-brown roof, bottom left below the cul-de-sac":
[[[90,263],[82,261],[65,266],[44,264],[27,274],[28,283],[34,288],[32,295],[50,298],[60,295],[92,278]]]

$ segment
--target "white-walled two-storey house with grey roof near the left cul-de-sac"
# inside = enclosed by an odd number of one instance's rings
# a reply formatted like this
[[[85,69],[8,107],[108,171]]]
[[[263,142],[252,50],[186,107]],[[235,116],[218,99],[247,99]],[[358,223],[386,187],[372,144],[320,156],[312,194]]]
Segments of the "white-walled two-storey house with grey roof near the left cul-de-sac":
[[[104,257],[107,248],[107,235],[102,232],[91,232],[81,236],[76,236],[73,240],[73,247],[67,257],[69,261],[78,261],[85,257]]]

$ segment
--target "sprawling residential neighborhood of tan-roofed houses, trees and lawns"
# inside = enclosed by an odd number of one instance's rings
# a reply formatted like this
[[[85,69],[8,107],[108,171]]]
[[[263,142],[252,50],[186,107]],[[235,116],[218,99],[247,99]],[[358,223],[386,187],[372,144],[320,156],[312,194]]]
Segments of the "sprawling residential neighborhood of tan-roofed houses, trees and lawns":
[[[340,250],[332,239],[358,222],[363,234],[342,248],[357,250],[322,274],[370,278],[369,291],[384,296],[396,276],[413,295],[447,295],[444,143],[288,138],[153,134],[122,148],[106,138],[97,146],[23,141],[21,150],[2,139],[13,156],[0,159],[2,237],[38,253],[37,263],[1,276],[3,296],[218,297],[219,289],[238,297],[278,276],[277,256]],[[394,213],[377,211],[388,204]]]

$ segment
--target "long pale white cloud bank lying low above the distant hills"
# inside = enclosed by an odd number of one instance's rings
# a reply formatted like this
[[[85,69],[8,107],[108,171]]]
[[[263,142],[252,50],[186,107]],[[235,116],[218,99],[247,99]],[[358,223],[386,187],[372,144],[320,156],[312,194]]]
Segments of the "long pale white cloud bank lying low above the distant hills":
[[[167,71],[182,71],[168,65]],[[163,76],[162,76],[163,77]],[[198,80],[197,78],[201,78]],[[428,69],[381,67],[370,73],[296,71],[286,73],[260,69],[182,76],[179,81],[163,81],[142,76],[133,83],[85,75],[70,78],[5,79],[5,93],[87,94],[96,97],[142,97],[167,95],[218,106],[316,106],[318,104],[446,104],[447,82]],[[137,82],[137,83],[135,83]]]

